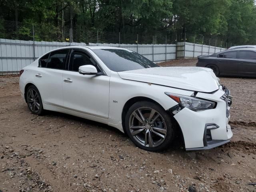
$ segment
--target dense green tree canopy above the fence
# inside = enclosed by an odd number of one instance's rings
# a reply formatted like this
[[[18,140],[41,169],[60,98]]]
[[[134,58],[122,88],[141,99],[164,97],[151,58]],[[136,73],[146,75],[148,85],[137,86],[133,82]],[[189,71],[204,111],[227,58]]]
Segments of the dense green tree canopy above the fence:
[[[186,32],[218,36],[233,44],[256,44],[254,0],[0,0],[0,10],[0,20],[52,30],[72,28],[144,37],[175,33],[181,34],[180,38]]]

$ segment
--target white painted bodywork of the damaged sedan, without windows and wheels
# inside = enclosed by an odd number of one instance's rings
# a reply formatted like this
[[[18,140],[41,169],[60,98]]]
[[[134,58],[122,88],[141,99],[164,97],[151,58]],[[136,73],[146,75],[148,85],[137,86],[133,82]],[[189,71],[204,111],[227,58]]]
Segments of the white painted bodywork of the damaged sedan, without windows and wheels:
[[[232,131],[226,117],[226,102],[220,97],[225,93],[216,76],[208,68],[160,67],[114,72],[98,58],[93,49],[113,47],[70,46],[86,50],[100,64],[106,75],[82,75],[78,72],[38,67],[38,59],[23,68],[20,91],[34,84],[42,97],[43,107],[108,124],[124,132],[122,112],[124,105],[135,97],[146,97],[156,101],[164,110],[178,103],[165,92],[211,100],[216,108],[192,111],[183,108],[174,118],[177,120],[186,149],[204,149],[205,125],[215,123],[219,128],[211,130],[213,140],[229,140]],[[123,48],[113,48],[123,49]],[[64,82],[71,80],[72,83]]]

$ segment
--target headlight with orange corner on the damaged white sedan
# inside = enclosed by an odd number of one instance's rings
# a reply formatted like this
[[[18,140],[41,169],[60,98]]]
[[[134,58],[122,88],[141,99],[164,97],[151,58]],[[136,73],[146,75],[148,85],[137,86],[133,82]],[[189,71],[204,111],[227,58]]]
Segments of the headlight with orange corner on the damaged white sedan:
[[[213,109],[215,106],[215,102],[212,102],[212,101],[202,100],[202,99],[198,99],[190,96],[172,94],[168,92],[165,92],[165,94],[168,95],[177,103],[193,111]]]

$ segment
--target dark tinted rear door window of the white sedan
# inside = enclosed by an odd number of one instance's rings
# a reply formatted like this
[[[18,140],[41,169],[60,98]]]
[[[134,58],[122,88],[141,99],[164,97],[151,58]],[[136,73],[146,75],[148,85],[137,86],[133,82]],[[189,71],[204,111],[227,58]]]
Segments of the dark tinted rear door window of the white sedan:
[[[51,52],[47,62],[47,68],[65,69],[68,51],[69,49],[62,49]]]

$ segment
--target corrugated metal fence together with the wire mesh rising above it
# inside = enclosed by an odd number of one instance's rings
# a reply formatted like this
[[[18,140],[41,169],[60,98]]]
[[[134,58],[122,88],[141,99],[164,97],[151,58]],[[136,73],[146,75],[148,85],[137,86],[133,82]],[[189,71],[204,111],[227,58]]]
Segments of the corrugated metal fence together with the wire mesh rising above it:
[[[132,34],[0,20],[0,74],[17,72],[44,53],[69,45],[119,46],[153,62],[163,62],[213,54],[232,44],[224,43],[219,36],[205,37],[188,32]]]

